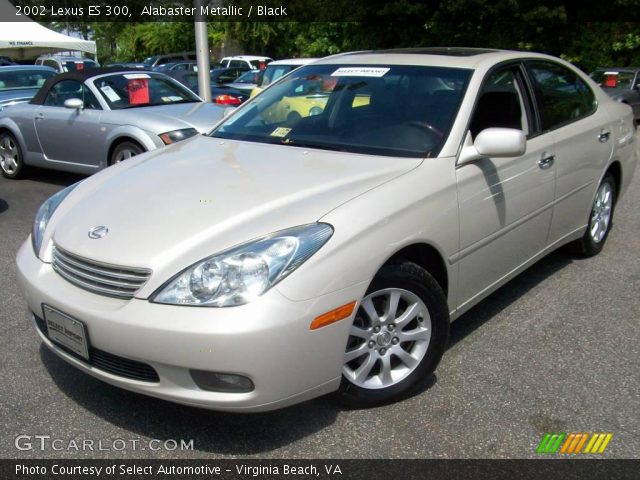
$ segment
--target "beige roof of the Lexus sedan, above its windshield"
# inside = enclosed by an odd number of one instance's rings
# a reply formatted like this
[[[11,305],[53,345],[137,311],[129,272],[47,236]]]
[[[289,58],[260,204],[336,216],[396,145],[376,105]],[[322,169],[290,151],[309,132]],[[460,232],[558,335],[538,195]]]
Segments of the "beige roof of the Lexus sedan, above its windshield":
[[[557,61],[555,57],[541,53],[514,50],[493,50],[464,47],[403,48],[394,50],[369,50],[348,52],[325,57],[317,65],[352,63],[356,65],[424,65],[476,69],[483,64],[519,58],[540,58]]]

